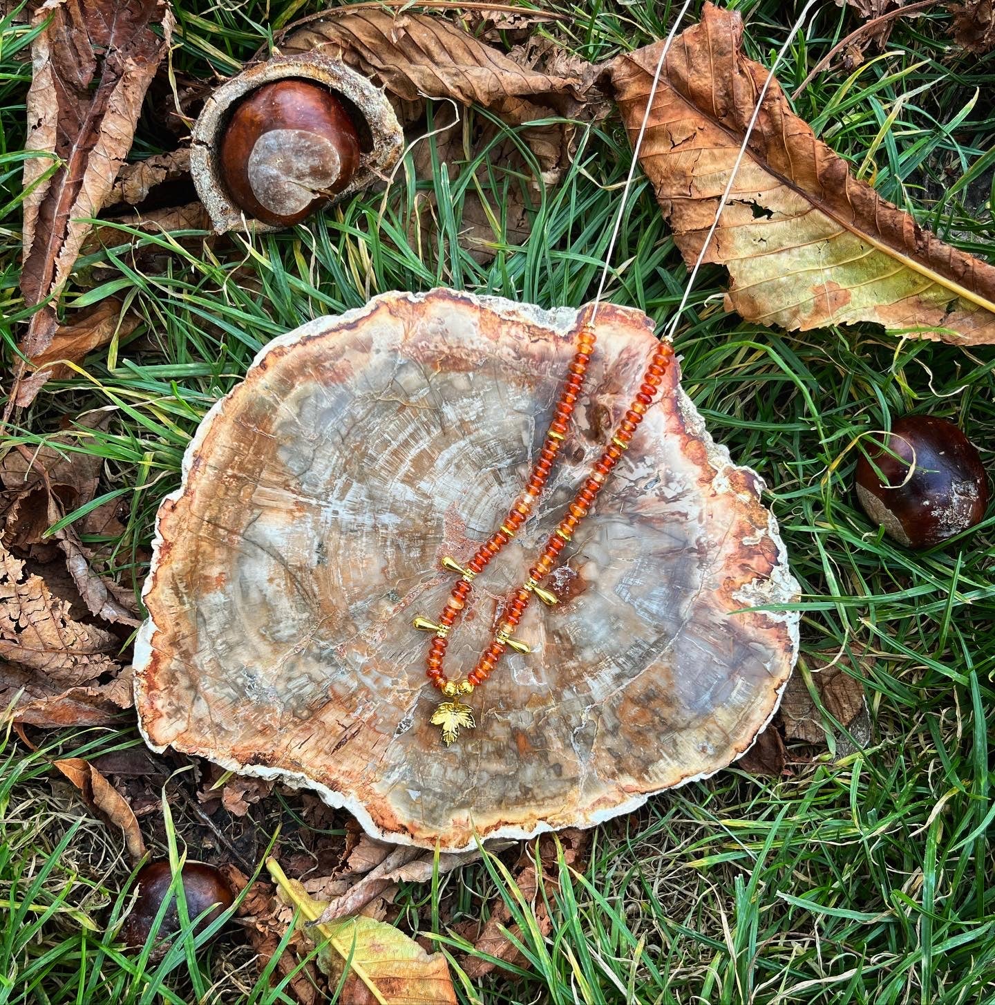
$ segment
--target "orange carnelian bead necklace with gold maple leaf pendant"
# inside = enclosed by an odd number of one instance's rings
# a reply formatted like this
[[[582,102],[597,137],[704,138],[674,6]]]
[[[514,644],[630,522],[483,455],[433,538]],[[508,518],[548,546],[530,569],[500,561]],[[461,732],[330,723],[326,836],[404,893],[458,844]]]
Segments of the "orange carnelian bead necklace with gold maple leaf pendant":
[[[414,619],[415,628],[431,631],[435,635],[428,647],[425,672],[433,686],[450,699],[440,705],[432,716],[432,724],[442,728],[442,740],[446,746],[457,738],[460,729],[473,729],[475,726],[472,711],[459,700],[459,696],[470,694],[476,687],[479,687],[490,676],[507,649],[524,653],[530,651],[525,642],[513,637],[515,629],[528,610],[534,596],[539,597],[546,604],[552,605],[557,602],[556,597],[548,590],[544,590],[540,584],[553,571],[560,553],[567,546],[581,522],[591,512],[598,492],[604,487],[622,453],[628,449],[629,441],[642,421],[642,417],[653,403],[663,381],[663,375],[666,373],[673,356],[667,343],[661,342],[657,345],[642,375],[639,390],[629,402],[629,407],[615,428],[608,445],[594,462],[587,478],[578,488],[570,506],[567,507],[566,516],[550,535],[545,548],[529,569],[529,578],[506,601],[501,622],[490,644],[480,654],[476,665],[464,680],[452,680],[446,675],[443,668],[449,632],[469,600],[473,591],[473,579],[483,572],[487,563],[515,537],[516,532],[526,522],[539,501],[560,446],[566,439],[567,431],[570,428],[570,417],[584,386],[584,377],[594,351],[594,327],[589,321],[581,329],[577,338],[577,350],[574,353],[567,379],[564,381],[553,412],[553,420],[546,433],[543,448],[533,464],[525,491],[512,505],[504,523],[480,545],[465,567],[460,566],[449,556],[442,559],[442,566],[451,572],[458,573],[460,579],[453,586],[449,599],[434,621],[421,615]]]

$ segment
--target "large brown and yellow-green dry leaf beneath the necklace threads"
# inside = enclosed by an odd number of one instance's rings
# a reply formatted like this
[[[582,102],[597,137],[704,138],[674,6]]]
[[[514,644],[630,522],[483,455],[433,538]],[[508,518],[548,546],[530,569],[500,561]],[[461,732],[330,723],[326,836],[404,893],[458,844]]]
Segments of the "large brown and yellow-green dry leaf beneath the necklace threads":
[[[666,57],[640,162],[684,259],[715,219],[767,78],[740,47],[743,21],[706,4]],[[610,67],[634,139],[662,42]],[[995,342],[995,267],[945,244],[854,179],[772,81],[706,261],[730,272],[727,306],[807,330],[876,322],[947,342]]]

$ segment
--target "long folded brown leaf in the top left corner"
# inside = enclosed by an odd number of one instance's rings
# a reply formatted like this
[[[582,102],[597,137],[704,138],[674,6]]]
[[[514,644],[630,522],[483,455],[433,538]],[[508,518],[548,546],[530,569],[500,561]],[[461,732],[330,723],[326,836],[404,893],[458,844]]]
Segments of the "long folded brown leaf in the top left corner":
[[[62,287],[89,230],[80,221],[106,203],[169,48],[173,16],[165,0],[49,0],[32,25],[41,30],[31,46],[25,142],[37,156],[24,160],[21,290],[29,307]],[[37,312],[24,354],[44,353],[54,331],[54,311]]]

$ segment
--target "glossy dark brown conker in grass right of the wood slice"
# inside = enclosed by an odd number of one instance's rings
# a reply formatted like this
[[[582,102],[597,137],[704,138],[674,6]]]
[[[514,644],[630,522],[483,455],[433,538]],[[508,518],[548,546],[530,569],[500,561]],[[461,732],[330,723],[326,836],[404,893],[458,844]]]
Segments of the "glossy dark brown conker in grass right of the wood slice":
[[[985,468],[953,422],[908,415],[891,426],[885,447],[875,443],[869,459],[857,461],[856,491],[867,516],[895,541],[929,548],[984,518]]]

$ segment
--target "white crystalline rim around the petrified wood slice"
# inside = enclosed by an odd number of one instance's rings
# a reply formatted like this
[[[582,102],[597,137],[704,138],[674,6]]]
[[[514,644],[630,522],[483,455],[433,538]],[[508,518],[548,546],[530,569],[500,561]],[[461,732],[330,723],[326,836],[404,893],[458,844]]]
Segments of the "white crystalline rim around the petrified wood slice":
[[[409,303],[418,304],[422,300],[432,296],[437,292],[445,292],[447,296],[455,296],[460,299],[465,299],[467,303],[479,305],[487,310],[493,312],[494,314],[504,317],[522,317],[522,315],[528,316],[537,325],[552,329],[560,334],[563,334],[571,329],[575,324],[579,309],[576,308],[554,308],[552,310],[546,310],[544,308],[539,308],[530,304],[517,304],[514,300],[509,300],[503,296],[477,296],[472,293],[460,292],[451,289],[432,289],[427,293],[410,293],[410,292],[386,292],[380,293],[374,296],[367,305],[362,308],[356,308],[352,311],[347,311],[344,314],[336,315],[334,317],[324,317],[318,318],[315,321],[308,322],[302,325],[300,328],[294,329],[292,332],[287,332],[285,335],[281,335],[274,339],[272,342],[264,346],[252,360],[249,370],[257,367],[266,357],[266,355],[275,349],[282,349],[285,347],[293,346],[309,336],[320,335],[322,333],[327,333],[330,330],[342,327],[344,325],[351,325],[354,322],[359,321],[361,318],[372,314],[373,311],[379,306],[382,300],[396,300],[399,297],[406,298]],[[634,309],[628,309],[634,310]],[[637,312],[638,313],[638,312]],[[246,371],[246,376],[248,371]],[[155,579],[156,572],[159,567],[160,555],[162,552],[163,538],[160,531],[160,517],[159,514],[162,513],[162,508],[168,502],[175,502],[178,500],[187,489],[187,480],[190,474],[190,469],[193,465],[195,456],[200,450],[200,447],[207,436],[208,431],[215,422],[215,420],[223,414],[225,409],[225,404],[228,399],[238,390],[241,386],[241,382],[236,384],[235,387],[231,389],[223,398],[218,399],[210,408],[208,413],[204,416],[200,425],[197,427],[197,431],[194,434],[193,439],[187,445],[187,449],[183,454],[183,464],[181,468],[181,481],[180,487],[175,491],[170,492],[169,495],[165,496],[162,504],[160,504],[159,513],[156,515],[156,529],[155,537],[152,543],[152,561],[149,565],[149,575],[146,578],[145,586],[142,589],[143,600],[152,588],[153,580]],[[694,407],[690,398],[681,390],[679,387],[677,389],[679,394],[678,406],[680,408],[681,414],[683,415],[684,421],[687,424],[687,428],[695,436],[701,438],[702,442],[705,443],[706,451],[709,456],[709,462],[715,467],[716,473],[722,473],[728,468],[733,468],[739,471],[749,471],[757,481],[757,491],[758,494],[763,491],[764,480],[757,474],[752,468],[746,466],[735,465],[729,454],[729,448],[721,443],[716,443],[712,437],[712,434],[705,427],[705,420],[699,414],[698,409]],[[771,596],[768,598],[768,603],[790,603],[798,594],[799,586],[798,582],[795,580],[794,576],[791,575],[788,569],[788,553],[784,546],[784,542],[781,540],[781,536],[778,532],[777,521],[774,518],[774,514],[768,510],[768,525],[767,534],[771,541],[777,546],[778,553],[778,563],[771,574],[769,582],[768,591]],[[744,607],[751,606],[748,599],[743,596],[744,590],[741,589],[740,595],[736,597],[737,600],[743,600]],[[766,611],[764,612],[766,616],[775,621],[783,621],[788,629],[789,638],[791,640],[792,653],[791,653],[791,665],[794,667],[795,660],[798,658],[798,624],[800,620],[800,612],[798,611]],[[153,743],[152,739],[149,737],[145,729],[145,723],[142,721],[141,714],[139,710],[142,708],[143,700],[145,697],[145,672],[149,668],[152,661],[152,655],[154,651],[154,640],[158,628],[151,617],[147,618],[142,627],[139,629],[138,635],[135,640],[135,709],[138,718],[139,732],[142,734],[143,739],[149,745],[149,747],[155,751],[157,754],[162,754],[168,747],[169,744],[156,744]],[[771,720],[774,718],[775,713],[781,705],[781,698],[784,694],[784,688],[788,684],[788,679],[790,674],[785,678],[785,681],[777,689],[775,694],[774,703],[771,708],[770,715],[764,721],[761,728],[754,735],[753,740],[750,744],[739,754],[733,758],[730,764],[738,761],[743,757],[748,751],[752,749],[754,744],[757,742],[757,738],[764,732],[765,729],[770,725]],[[357,799],[355,796],[348,796],[341,792],[336,792],[330,789],[326,785],[322,785],[320,782],[316,782],[309,778],[307,775],[301,772],[289,771],[285,768],[267,768],[263,765],[253,765],[253,764],[241,764],[234,758],[223,757],[215,754],[198,754],[197,756],[205,757],[207,760],[212,761],[214,764],[219,765],[226,771],[234,771],[239,775],[245,775],[250,778],[262,778],[268,781],[278,781],[285,785],[289,785],[292,788],[307,788],[317,792],[322,800],[329,806],[335,807],[337,809],[344,808],[349,810],[353,816],[360,822],[363,829],[371,836],[382,841],[389,841],[394,844],[408,844],[415,845],[418,847],[433,847],[434,845],[426,845],[420,841],[413,840],[409,835],[406,834],[395,834],[390,831],[381,830],[373,821],[373,818],[367,812],[364,804]],[[703,772],[699,775],[692,775],[687,778],[681,779],[675,785],[667,786],[665,789],[660,789],[658,792],[665,792],[670,789],[679,788],[682,785],[688,785],[691,782],[701,782],[707,778],[711,778],[713,775],[718,774],[718,772],[725,770],[729,765],[725,765],[722,768],[717,768],[715,771]],[[612,817],[620,816],[623,813],[631,813],[642,806],[650,796],[658,794],[658,792],[646,792],[639,795],[633,796],[631,799],[626,800],[623,803],[618,803],[615,806],[609,807],[607,809],[599,810],[593,812],[587,816],[584,822],[576,823],[574,826],[580,827],[593,827],[596,824],[603,823],[606,820],[610,820]],[[568,824],[561,824],[559,826],[569,826]],[[556,830],[551,824],[545,821],[540,821],[535,827],[516,827],[507,826],[501,827],[487,834],[486,841],[492,841],[497,839],[528,839],[536,837],[539,834],[547,833],[551,830]],[[486,842],[484,842],[486,843]],[[441,850],[446,852],[461,852],[461,851],[471,851],[477,846],[476,840],[471,840],[465,845],[458,847],[442,846]]]

